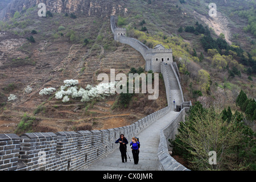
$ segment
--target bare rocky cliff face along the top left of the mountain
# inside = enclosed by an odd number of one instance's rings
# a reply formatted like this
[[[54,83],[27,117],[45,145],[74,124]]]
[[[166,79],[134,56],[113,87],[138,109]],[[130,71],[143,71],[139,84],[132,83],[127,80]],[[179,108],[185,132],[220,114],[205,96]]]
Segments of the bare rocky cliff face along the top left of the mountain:
[[[42,1],[39,0],[14,0],[6,10],[5,19],[13,17],[15,11],[22,11],[33,6],[37,6]],[[54,13],[75,13],[87,16],[109,16],[112,14],[125,14],[126,7],[123,1],[105,0],[45,0],[47,11]]]

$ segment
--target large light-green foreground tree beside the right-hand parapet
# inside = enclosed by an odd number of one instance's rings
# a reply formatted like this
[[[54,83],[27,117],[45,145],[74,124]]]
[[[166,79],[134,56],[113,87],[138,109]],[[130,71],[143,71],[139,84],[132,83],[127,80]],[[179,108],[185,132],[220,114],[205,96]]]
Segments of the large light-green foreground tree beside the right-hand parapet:
[[[196,105],[197,109],[189,111],[185,122],[180,123],[179,134],[174,140],[174,151],[187,152],[185,159],[189,162],[189,168],[195,170],[230,170],[241,169],[236,161],[242,131],[238,130],[235,119],[230,122],[222,120],[222,114],[214,109],[204,109]],[[209,152],[216,151],[217,164],[209,164]]]

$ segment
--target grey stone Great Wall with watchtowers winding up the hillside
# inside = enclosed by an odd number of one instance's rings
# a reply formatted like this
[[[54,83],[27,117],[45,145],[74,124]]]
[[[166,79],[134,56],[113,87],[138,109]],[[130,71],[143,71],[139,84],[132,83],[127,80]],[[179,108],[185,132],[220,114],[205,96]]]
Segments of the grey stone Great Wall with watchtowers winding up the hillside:
[[[114,16],[111,16],[110,24],[115,40],[129,44],[142,54],[146,61],[146,71],[151,69],[162,73],[168,106],[139,119],[132,125],[108,130],[26,133],[21,136],[0,134],[1,171],[95,169],[90,166],[100,159],[110,158],[113,152],[117,151],[118,144],[114,142],[120,134],[130,139],[142,131],[152,130],[150,126],[153,124],[161,128],[153,129],[159,137],[156,137],[158,147],[154,151],[157,167],[151,169],[188,170],[168,153],[168,139],[175,137],[179,122],[184,122],[185,112],[191,106],[191,102],[184,102],[179,72],[172,61],[172,50],[161,46],[159,49],[149,49],[137,39],[127,38],[126,30],[115,26]],[[174,98],[175,105],[172,104]],[[160,123],[164,124],[164,127]],[[146,142],[146,138],[143,142]]]

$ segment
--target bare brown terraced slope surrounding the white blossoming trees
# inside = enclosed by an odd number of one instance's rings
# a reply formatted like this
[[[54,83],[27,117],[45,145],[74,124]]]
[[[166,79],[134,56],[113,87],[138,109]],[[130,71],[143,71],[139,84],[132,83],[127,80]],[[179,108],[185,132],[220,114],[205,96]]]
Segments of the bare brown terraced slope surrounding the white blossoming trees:
[[[24,113],[36,118],[32,131],[56,132],[121,127],[166,106],[163,81],[158,100],[148,101],[146,94],[138,94],[127,109],[111,108],[117,96],[88,103],[71,100],[65,104],[53,95],[40,96],[41,89],[58,89],[71,78],[79,80],[82,88],[97,84],[98,73],[109,74],[110,68],[115,69],[115,74],[128,73],[132,67],[144,67],[144,60],[139,52],[119,43],[113,52],[103,47],[93,52],[82,44],[63,40],[26,42],[10,33],[0,37],[0,133],[14,133]],[[24,51],[23,46],[31,46],[31,52]],[[31,93],[24,92],[26,86],[32,88]],[[15,94],[17,99],[8,102],[9,94]]]

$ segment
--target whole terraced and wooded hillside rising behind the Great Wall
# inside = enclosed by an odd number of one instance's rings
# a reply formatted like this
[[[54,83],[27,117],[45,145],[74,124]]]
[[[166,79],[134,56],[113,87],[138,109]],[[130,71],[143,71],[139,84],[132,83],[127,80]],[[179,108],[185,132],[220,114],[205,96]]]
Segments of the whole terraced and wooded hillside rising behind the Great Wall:
[[[35,121],[27,131],[108,129],[135,122],[167,105],[163,80],[158,100],[148,101],[146,95],[139,94],[125,108],[117,104],[118,95],[65,104],[54,95],[39,95],[43,88],[59,89],[64,80],[77,79],[85,88],[98,84],[97,75],[110,69],[117,74],[144,68],[139,52],[113,40],[109,21],[113,14],[119,16],[117,24],[126,27],[129,36],[151,48],[162,43],[173,49],[186,101],[201,101],[220,110],[231,106],[236,111],[241,89],[250,98],[256,93],[255,36],[247,27],[246,16],[240,14],[255,3],[231,2],[215,1],[218,16],[210,18],[210,2],[203,0],[48,0],[46,7],[51,13],[42,18],[35,0],[15,0],[6,9],[5,21],[0,22],[0,133],[13,133],[24,113]],[[185,31],[187,26],[197,27],[196,23],[208,26],[214,41],[224,34],[222,39],[232,49],[228,53],[224,49],[216,52],[214,47],[205,51],[201,43],[204,34]],[[27,40],[31,36],[35,42]],[[235,68],[240,75],[231,74]],[[31,93],[24,92],[27,86]],[[8,102],[10,94],[17,99]]]

